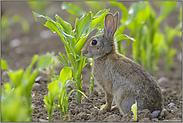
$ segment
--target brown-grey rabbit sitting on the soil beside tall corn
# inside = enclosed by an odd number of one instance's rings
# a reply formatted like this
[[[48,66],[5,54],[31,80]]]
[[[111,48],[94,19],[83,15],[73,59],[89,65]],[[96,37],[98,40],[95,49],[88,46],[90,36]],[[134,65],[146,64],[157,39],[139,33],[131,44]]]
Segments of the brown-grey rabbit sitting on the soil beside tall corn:
[[[86,41],[81,53],[94,59],[94,80],[105,92],[103,112],[111,111],[114,101],[122,115],[133,115],[131,106],[137,101],[137,109],[149,109],[152,117],[159,117],[163,97],[154,78],[138,63],[117,52],[114,34],[119,12],[108,13],[104,19],[104,32]]]

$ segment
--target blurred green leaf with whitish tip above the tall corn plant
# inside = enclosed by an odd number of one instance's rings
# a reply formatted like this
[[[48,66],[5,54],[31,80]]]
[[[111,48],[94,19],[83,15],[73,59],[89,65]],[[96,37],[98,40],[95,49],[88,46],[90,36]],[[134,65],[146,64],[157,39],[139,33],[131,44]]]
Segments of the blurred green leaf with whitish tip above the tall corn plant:
[[[85,14],[85,11],[82,10],[81,8],[71,4],[71,3],[66,3],[66,2],[63,2],[62,5],[61,5],[61,8],[63,10],[67,10],[69,13],[73,14],[73,15],[78,15],[78,16],[81,16],[81,15],[84,15]]]

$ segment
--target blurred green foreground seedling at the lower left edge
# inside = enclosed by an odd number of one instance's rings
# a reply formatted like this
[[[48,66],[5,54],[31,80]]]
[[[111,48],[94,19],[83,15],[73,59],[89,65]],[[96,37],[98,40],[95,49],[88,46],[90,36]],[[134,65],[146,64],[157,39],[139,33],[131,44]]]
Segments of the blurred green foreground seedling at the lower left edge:
[[[36,69],[32,67],[37,61]],[[10,70],[6,61],[1,59],[1,69],[8,72],[10,82],[1,88],[1,118],[4,122],[31,121],[31,90],[39,69],[44,69],[51,62],[51,56],[34,55],[30,65],[25,69]],[[31,72],[32,71],[32,72]]]

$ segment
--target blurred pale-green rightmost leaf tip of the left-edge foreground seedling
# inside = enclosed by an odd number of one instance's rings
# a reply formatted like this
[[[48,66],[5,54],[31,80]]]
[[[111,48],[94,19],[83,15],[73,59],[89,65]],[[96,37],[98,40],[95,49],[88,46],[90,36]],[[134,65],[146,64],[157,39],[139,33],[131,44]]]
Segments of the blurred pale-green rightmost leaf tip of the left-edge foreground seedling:
[[[52,57],[49,54],[40,56],[37,63],[37,69],[44,69],[48,67],[51,61],[52,61]]]

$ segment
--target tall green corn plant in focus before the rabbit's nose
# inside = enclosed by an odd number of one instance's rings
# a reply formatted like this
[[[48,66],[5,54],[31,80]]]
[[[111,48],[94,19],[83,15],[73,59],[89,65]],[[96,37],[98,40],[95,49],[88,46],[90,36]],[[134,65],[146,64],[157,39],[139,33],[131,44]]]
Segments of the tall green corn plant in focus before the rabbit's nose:
[[[75,20],[75,29],[72,29],[71,25],[64,21],[58,15],[55,15],[56,21],[52,20],[48,16],[43,16],[33,12],[36,17],[43,17],[47,20],[45,26],[51,29],[53,32],[59,34],[61,41],[64,43],[66,55],[59,53],[60,62],[65,67],[72,67],[72,76],[74,78],[74,85],[77,90],[82,88],[81,71],[86,65],[86,58],[81,54],[81,48],[83,47],[87,37],[94,30],[100,30],[104,23],[104,17],[108,13],[109,9],[99,11],[96,15],[89,13],[83,15],[80,19]],[[36,19],[37,20],[37,19]],[[68,58],[68,60],[67,60]],[[77,101],[81,103],[81,93],[77,91]]]

